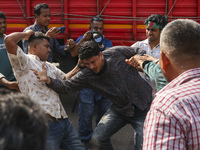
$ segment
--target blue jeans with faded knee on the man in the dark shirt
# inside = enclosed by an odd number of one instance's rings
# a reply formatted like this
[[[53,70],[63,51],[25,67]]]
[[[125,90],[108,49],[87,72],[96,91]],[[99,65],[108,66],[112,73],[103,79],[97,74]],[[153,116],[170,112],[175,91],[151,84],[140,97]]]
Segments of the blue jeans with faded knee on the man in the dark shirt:
[[[149,109],[141,111],[135,109],[134,117],[126,117],[117,113],[112,107],[104,114],[92,135],[93,149],[113,150],[110,138],[126,124],[131,124],[136,131],[135,150],[142,150],[143,125]]]

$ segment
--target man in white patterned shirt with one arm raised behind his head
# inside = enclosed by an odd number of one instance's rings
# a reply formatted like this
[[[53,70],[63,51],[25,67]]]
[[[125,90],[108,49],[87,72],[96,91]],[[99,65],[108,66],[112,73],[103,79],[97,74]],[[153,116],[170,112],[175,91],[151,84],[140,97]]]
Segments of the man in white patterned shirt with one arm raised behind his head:
[[[17,46],[17,43],[23,38],[29,40],[28,55]],[[33,71],[31,71],[31,69],[42,70],[42,67],[46,67],[49,76],[63,81],[66,79],[65,73],[46,62],[51,51],[49,41],[50,38],[43,33],[34,33],[29,30],[8,35],[5,38],[5,45],[19,82],[20,91],[37,101],[49,117],[46,150],[84,150],[74,126],[67,118],[59,95],[48,88],[44,82],[38,82]],[[79,71],[78,67],[77,70]]]

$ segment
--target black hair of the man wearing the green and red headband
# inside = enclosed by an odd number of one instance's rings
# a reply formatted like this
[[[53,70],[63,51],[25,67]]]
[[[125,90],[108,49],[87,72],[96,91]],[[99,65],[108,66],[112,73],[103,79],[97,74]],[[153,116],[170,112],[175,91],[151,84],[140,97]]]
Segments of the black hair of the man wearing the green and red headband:
[[[152,14],[144,21],[144,24],[147,25],[149,21],[155,22],[156,24],[160,25],[162,28],[164,28],[166,24],[168,23],[168,19],[165,16],[160,15],[160,14]]]

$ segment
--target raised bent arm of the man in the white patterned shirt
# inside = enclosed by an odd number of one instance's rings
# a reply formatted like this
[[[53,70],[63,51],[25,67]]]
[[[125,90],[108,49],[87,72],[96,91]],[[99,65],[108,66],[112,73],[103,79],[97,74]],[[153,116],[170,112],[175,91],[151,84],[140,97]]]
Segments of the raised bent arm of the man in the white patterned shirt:
[[[17,54],[17,43],[21,39],[28,40],[29,37],[34,33],[32,30],[28,30],[26,32],[13,32],[5,37],[5,45],[8,53]]]

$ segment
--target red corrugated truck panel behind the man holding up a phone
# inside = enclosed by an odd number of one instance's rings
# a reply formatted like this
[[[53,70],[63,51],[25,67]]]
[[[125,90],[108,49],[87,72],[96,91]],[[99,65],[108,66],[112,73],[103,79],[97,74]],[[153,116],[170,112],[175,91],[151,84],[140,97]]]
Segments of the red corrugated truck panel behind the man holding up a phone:
[[[18,3],[19,1],[19,3]],[[61,0],[41,1],[41,0],[1,0],[0,11],[3,11],[7,16],[7,31],[6,34],[16,31],[23,31],[28,25],[34,23],[34,6],[38,3],[45,2],[51,8],[50,26],[64,25],[63,16],[61,15]],[[30,9],[27,10],[27,3],[30,3]],[[29,13],[28,13],[29,12]],[[29,14],[29,15],[28,15]],[[28,20],[30,23],[28,23]],[[64,38],[64,34],[58,36]]]

